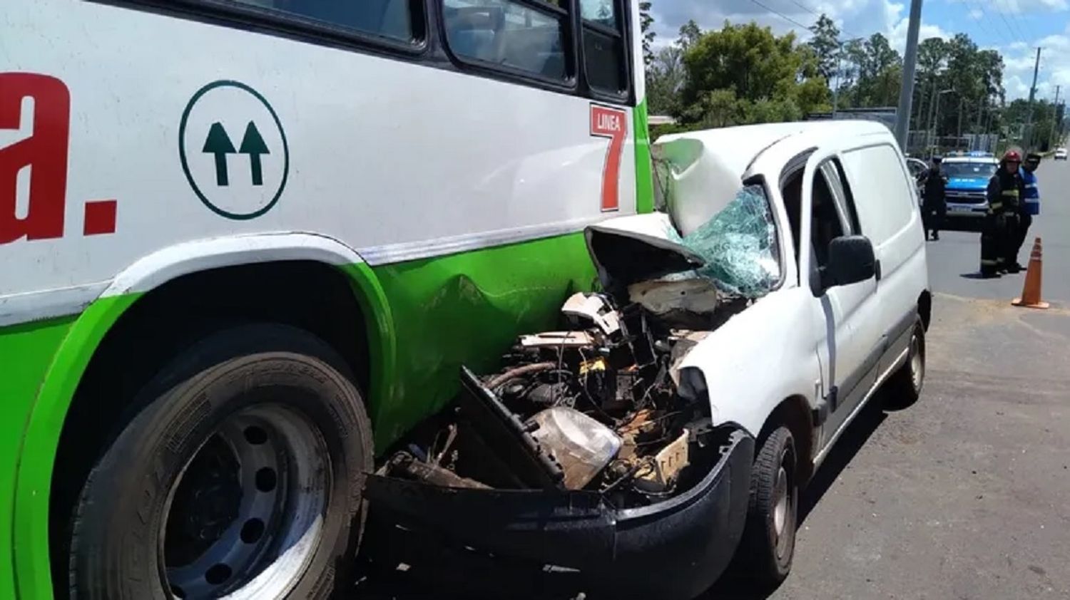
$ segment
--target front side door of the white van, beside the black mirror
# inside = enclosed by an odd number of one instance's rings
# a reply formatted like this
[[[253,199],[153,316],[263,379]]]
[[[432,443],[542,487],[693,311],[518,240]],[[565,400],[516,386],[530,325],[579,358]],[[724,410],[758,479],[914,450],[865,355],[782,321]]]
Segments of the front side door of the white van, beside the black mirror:
[[[809,277],[812,314],[825,330],[816,344],[825,396],[822,447],[835,439],[876,381],[884,352],[875,313],[876,277],[831,286],[825,273],[831,241],[859,233],[857,211],[841,174],[842,166],[834,154],[815,154],[808,160],[802,180],[799,273]],[[800,279],[805,286],[805,278]]]

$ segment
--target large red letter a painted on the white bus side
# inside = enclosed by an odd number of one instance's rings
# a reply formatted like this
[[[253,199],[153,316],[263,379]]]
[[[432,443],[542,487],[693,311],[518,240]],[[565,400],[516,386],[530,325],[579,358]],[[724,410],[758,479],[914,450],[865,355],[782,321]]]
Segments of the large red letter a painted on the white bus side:
[[[0,244],[63,236],[71,94],[55,77],[0,73],[0,129],[18,129],[22,98],[33,98],[30,137],[0,149]],[[30,167],[30,202],[16,214],[16,179]]]

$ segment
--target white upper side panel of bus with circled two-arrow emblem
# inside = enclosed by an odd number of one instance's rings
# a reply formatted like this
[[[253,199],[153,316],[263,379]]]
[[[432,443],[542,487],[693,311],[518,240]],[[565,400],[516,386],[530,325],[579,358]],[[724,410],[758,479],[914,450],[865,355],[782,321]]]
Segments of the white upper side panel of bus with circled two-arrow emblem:
[[[630,107],[96,2],[0,2],[0,172],[20,173],[0,297],[220,235],[321,233],[380,265],[635,212]]]

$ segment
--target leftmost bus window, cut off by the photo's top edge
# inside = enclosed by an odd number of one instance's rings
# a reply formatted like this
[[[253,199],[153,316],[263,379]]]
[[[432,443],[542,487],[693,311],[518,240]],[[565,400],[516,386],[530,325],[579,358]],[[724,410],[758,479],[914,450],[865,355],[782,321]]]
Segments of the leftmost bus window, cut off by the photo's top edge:
[[[355,29],[401,42],[413,42],[411,0],[232,0]]]

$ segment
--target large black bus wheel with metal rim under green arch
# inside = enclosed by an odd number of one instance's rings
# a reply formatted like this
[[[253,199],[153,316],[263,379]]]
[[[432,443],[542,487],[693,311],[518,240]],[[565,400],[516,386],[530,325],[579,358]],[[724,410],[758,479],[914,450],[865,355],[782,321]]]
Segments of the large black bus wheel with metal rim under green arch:
[[[132,412],[75,508],[73,598],[325,598],[343,579],[371,427],[324,342],[282,325],[212,335]]]

